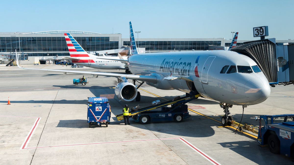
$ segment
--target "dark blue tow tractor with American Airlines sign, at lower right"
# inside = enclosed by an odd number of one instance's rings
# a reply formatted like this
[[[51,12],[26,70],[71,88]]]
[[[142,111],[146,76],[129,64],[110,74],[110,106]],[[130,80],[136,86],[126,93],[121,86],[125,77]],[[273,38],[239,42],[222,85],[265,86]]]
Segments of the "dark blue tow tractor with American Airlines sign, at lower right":
[[[262,126],[261,122],[265,122]],[[274,154],[294,156],[294,115],[262,115],[259,119],[258,142],[268,145]],[[294,136],[294,134],[293,134]]]

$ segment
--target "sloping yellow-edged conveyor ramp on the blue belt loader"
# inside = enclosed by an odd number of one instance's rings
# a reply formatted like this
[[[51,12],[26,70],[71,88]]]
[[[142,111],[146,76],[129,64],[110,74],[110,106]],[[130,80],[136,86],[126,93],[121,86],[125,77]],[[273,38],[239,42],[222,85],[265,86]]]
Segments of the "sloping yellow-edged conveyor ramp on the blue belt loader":
[[[197,99],[200,96],[201,95],[186,96],[186,97],[181,97],[181,98],[179,98],[177,100],[170,100],[170,101],[163,102],[160,105],[151,105],[149,107],[140,108],[137,111],[129,112],[129,116],[134,116],[134,115],[137,115],[137,114],[139,114],[141,112],[155,110],[157,108],[166,107],[166,106],[172,105],[172,104],[174,106],[180,106],[180,105],[186,104],[187,102],[189,102],[191,100]],[[117,118],[118,121],[123,120],[123,114],[116,115],[116,118]]]

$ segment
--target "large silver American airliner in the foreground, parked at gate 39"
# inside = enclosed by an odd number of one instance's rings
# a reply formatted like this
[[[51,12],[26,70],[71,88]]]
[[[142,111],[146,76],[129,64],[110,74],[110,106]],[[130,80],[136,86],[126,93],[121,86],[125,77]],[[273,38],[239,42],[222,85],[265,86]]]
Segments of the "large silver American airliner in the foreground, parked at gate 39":
[[[132,55],[128,68],[133,74],[86,72],[72,70],[47,70],[116,77],[115,95],[123,101],[139,101],[137,91],[143,83],[162,90],[180,90],[190,95],[200,94],[220,102],[225,116],[222,124],[228,125],[233,117],[229,107],[255,105],[270,95],[270,85],[258,65],[249,57],[228,50],[186,51],[138,54],[131,22],[130,38]],[[69,35],[66,33],[66,35]],[[77,52],[83,52],[83,49]],[[17,62],[18,65],[18,62]],[[18,65],[19,66],[19,65]],[[20,67],[21,68],[21,67]],[[128,82],[127,79],[133,80]],[[142,81],[137,87],[136,82]]]

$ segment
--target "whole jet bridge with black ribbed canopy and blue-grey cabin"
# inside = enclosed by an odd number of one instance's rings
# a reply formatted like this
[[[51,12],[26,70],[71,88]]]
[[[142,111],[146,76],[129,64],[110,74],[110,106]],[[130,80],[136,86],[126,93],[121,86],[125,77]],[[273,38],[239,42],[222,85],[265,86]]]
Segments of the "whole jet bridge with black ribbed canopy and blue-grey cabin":
[[[273,87],[294,83],[294,45],[276,44],[275,38],[244,42],[232,48],[253,59]]]

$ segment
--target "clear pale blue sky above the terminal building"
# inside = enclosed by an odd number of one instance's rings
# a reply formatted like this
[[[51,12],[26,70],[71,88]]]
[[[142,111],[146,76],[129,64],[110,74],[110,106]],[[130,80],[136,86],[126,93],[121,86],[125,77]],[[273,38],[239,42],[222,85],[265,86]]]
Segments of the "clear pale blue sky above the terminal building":
[[[0,32],[78,30],[121,33],[128,22],[139,38],[253,38],[253,27],[268,26],[277,40],[294,39],[293,0],[50,0],[1,2]],[[136,35],[137,38],[137,35]]]

